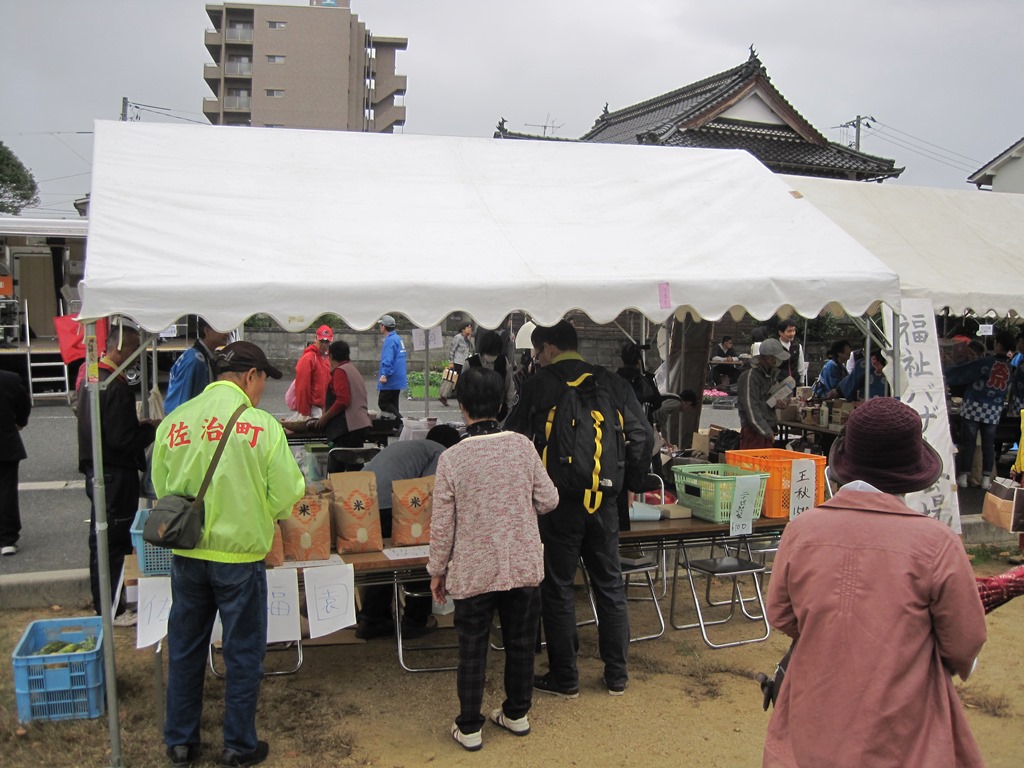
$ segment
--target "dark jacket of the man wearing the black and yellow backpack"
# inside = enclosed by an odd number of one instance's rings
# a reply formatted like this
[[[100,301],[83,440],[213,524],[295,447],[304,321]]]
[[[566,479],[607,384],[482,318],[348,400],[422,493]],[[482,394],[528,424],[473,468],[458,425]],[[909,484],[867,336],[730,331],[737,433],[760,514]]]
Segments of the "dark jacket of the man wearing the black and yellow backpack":
[[[592,366],[579,356],[559,358],[546,370],[555,376],[547,376],[544,375],[544,371],[539,371],[523,382],[519,401],[509,414],[505,428],[510,432],[524,434],[530,439],[543,434],[545,418],[551,408],[558,402],[558,397],[565,386],[563,382],[572,381],[591,372],[611,393],[612,401],[623,414],[626,431],[626,487],[638,493],[642,490],[646,475],[650,471],[654,432],[629,382],[608,373],[600,366]]]

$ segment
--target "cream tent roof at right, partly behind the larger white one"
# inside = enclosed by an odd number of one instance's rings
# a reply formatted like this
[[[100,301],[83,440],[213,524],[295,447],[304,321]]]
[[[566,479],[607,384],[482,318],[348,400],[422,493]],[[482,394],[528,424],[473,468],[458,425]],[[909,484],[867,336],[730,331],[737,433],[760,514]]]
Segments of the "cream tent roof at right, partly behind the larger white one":
[[[1024,314],[1024,195],[782,177],[936,311]]]

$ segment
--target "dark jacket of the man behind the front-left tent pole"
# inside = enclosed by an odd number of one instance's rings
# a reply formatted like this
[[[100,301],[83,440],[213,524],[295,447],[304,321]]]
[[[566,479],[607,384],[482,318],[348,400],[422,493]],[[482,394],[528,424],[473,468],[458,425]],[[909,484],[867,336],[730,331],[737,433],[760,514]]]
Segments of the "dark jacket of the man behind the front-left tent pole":
[[[128,382],[118,376],[111,379],[112,369],[99,365],[99,380],[110,384],[99,392],[100,431],[102,433],[103,466],[123,469],[145,469],[145,449],[157,432],[150,424],[139,424],[135,412],[135,393]],[[78,471],[92,469],[92,418],[90,395],[82,389],[78,409]]]

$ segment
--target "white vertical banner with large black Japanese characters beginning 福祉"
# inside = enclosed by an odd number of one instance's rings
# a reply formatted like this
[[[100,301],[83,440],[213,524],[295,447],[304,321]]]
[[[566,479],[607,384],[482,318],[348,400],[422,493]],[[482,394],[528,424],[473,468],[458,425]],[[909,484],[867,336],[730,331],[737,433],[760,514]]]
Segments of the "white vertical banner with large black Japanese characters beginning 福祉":
[[[946,388],[942,380],[935,308],[929,299],[901,302],[902,314],[885,307],[886,336],[898,339],[899,397],[919,414],[925,426],[925,440],[942,457],[942,474],[929,488],[906,495],[906,505],[946,523],[961,532],[959,503],[953,487],[953,440],[949,433]]]

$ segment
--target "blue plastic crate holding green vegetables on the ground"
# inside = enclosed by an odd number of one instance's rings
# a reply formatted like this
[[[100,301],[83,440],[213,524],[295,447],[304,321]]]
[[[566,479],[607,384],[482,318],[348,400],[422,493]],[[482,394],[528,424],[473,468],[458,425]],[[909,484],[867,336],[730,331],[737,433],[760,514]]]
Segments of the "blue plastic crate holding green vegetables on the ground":
[[[96,639],[92,650],[33,655],[47,643],[81,643],[90,637]],[[99,616],[33,622],[12,658],[18,721],[98,718],[103,714],[103,623]]]

